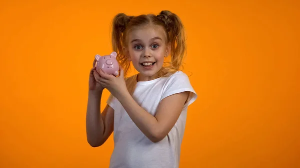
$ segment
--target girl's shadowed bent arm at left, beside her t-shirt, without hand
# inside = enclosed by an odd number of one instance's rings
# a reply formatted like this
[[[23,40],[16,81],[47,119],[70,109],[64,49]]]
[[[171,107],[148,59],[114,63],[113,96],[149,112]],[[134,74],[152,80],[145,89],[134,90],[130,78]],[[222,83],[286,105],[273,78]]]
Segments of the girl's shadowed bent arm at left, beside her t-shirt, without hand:
[[[100,113],[101,95],[102,91],[100,93],[88,92],[86,137],[88,144],[92,147],[101,146],[113,131],[114,110],[106,105]]]

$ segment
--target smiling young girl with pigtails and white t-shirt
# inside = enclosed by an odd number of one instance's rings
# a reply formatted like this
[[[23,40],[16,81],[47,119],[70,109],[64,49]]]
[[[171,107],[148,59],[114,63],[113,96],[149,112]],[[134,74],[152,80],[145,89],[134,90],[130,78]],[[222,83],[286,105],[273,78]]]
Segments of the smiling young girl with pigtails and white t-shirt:
[[[101,146],[114,132],[109,168],[178,168],[187,106],[197,97],[179,70],[186,49],[180,19],[170,11],[119,13],[112,21],[112,46],[119,76],[94,67],[89,75],[88,143]],[[138,74],[124,79],[130,62]],[[99,113],[104,88],[111,94]]]

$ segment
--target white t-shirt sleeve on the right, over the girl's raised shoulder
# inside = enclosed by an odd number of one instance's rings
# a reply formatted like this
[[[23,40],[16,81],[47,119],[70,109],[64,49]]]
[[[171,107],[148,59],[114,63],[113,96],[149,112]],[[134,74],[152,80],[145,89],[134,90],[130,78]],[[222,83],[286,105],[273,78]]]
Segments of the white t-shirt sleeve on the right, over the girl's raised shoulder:
[[[186,108],[196,100],[197,94],[191,86],[188,76],[182,71],[177,71],[168,79],[161,100],[170,95],[186,91],[189,92],[189,94],[187,101],[184,104],[184,108]]]

